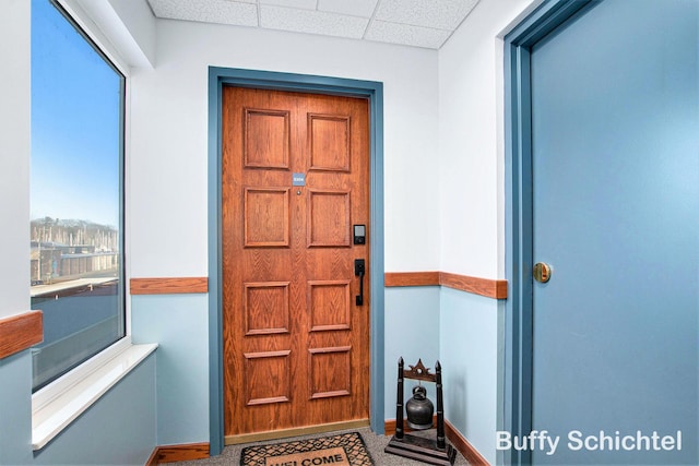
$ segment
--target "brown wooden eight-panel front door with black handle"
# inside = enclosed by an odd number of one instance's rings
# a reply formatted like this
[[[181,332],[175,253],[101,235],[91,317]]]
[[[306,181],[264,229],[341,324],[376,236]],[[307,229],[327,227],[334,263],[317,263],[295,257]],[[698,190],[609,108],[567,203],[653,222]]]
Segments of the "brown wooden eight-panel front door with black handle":
[[[367,420],[368,99],[225,87],[222,111],[226,442]]]

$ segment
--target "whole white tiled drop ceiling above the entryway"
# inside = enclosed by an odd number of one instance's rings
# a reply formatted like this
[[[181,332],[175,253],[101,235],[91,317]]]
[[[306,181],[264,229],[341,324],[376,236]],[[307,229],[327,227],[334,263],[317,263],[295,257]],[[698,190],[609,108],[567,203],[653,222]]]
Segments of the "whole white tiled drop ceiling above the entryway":
[[[147,0],[156,17],[438,49],[478,0]]]

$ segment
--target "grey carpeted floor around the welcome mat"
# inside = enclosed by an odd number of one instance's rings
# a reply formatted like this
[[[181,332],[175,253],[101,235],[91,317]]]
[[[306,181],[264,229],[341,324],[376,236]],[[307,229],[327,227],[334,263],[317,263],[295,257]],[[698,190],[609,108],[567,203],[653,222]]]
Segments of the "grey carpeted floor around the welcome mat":
[[[402,456],[392,455],[390,453],[384,453],[383,449],[386,447],[387,443],[389,443],[389,440],[391,440],[391,438],[387,435],[377,435],[376,433],[371,432],[371,430],[368,427],[360,428],[360,429],[350,429],[347,431],[341,431],[341,432],[353,432],[353,431],[359,432],[362,434],[362,438],[364,439],[364,442],[366,443],[367,449],[371,453],[371,457],[374,458],[374,464],[376,466],[418,466],[418,465],[425,464],[425,463],[416,462],[413,459],[404,458]],[[341,433],[341,432],[333,432],[333,433]],[[427,435],[433,439],[436,435],[434,429],[426,430],[423,432],[412,432],[412,434],[416,434],[416,433],[419,435]],[[170,464],[181,465],[181,466],[208,466],[208,465],[238,466],[240,464],[240,451],[248,445],[273,443],[273,442],[274,443],[288,442],[293,440],[311,439],[311,438],[318,438],[318,437],[323,437],[329,434],[330,433],[318,433],[313,435],[297,437],[293,439],[280,439],[280,440],[271,440],[271,441],[257,442],[257,443],[230,445],[230,446],[226,446],[223,450],[223,453],[218,456],[213,456],[208,459],[197,459],[192,462],[179,462],[179,463],[170,463]],[[463,455],[461,453],[457,453],[457,461],[454,462],[454,465],[464,466],[467,464],[469,463],[463,457]]]

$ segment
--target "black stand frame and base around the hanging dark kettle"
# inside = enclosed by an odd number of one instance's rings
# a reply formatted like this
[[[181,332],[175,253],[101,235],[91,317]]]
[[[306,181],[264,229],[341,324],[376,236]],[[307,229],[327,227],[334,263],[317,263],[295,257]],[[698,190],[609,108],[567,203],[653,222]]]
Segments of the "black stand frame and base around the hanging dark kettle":
[[[437,384],[437,439],[426,439],[405,433],[403,429],[403,380],[414,379]],[[417,459],[433,465],[451,466],[457,451],[445,439],[445,399],[441,392],[441,365],[437,361],[435,373],[430,374],[422,360],[410,370],[403,369],[403,358],[398,360],[398,401],[395,403],[395,434],[383,450],[387,453]]]

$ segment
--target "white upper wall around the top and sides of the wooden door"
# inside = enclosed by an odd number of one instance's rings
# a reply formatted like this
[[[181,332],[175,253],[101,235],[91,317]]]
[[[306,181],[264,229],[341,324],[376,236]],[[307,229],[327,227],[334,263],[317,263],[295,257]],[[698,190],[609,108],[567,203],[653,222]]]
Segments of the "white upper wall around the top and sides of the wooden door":
[[[171,20],[156,25],[157,64],[133,69],[130,80],[131,276],[208,273],[210,65],[383,82],[386,268],[437,267],[435,50]]]

